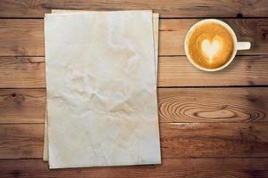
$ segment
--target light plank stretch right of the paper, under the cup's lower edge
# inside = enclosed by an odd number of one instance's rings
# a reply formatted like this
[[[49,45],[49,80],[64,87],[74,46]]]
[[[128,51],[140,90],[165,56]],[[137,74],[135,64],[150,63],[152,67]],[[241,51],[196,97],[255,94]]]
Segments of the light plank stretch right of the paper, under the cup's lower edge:
[[[184,56],[162,57],[158,66],[158,86],[268,85],[266,56],[237,56],[217,72],[201,71]]]

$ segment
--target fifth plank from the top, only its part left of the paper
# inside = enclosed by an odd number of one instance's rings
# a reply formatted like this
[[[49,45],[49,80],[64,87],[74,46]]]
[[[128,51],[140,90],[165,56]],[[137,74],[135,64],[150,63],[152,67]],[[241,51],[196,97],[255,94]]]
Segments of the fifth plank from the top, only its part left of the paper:
[[[0,158],[41,158],[44,124],[0,125]]]

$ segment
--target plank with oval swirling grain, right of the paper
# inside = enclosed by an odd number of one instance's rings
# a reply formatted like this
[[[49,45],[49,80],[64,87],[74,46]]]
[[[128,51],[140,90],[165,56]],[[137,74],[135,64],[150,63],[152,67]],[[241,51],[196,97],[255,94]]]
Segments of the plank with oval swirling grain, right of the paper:
[[[267,122],[268,88],[161,88],[161,122]]]

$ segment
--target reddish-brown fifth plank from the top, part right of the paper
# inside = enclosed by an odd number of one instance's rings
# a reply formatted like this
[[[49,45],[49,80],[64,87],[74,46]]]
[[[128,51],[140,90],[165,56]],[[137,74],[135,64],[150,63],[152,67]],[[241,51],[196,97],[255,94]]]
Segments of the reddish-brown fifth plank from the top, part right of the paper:
[[[268,125],[255,123],[161,124],[163,158],[268,156]]]

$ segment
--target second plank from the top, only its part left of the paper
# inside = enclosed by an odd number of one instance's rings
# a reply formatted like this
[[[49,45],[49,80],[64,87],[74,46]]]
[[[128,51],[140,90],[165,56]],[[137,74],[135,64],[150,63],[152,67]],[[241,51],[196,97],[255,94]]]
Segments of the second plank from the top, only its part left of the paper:
[[[0,56],[44,56],[43,20],[0,20]]]

